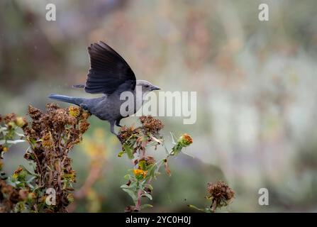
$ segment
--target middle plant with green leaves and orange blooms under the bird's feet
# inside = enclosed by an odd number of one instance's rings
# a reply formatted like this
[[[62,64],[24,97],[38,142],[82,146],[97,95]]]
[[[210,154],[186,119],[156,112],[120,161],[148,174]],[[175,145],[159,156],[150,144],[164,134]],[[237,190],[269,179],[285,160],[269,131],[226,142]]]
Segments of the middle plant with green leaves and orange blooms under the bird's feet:
[[[150,182],[160,174],[159,170],[162,165],[164,165],[167,175],[170,176],[168,157],[178,155],[182,148],[193,142],[190,135],[183,134],[172,150],[168,151],[160,135],[160,130],[164,127],[162,122],[152,116],[140,116],[139,120],[142,124],[140,127],[123,126],[119,131],[122,151],[118,156],[121,157],[126,154],[133,162],[133,170],[125,176],[128,182],[121,185],[123,191],[127,192],[134,202],[133,206],[126,207],[126,212],[140,211],[143,208],[152,207],[150,204],[141,205],[142,197],[152,199],[153,187]],[[158,145],[165,147],[167,156],[157,162],[154,157],[146,155],[146,150],[149,147],[156,150]]]

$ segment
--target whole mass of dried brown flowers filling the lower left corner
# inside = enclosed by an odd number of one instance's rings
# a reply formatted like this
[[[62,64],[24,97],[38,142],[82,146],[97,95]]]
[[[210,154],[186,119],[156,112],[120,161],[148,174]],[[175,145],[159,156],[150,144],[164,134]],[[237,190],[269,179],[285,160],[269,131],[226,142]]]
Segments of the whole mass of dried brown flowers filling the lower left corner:
[[[71,191],[76,181],[68,153],[89,128],[90,114],[76,106],[60,109],[56,104],[48,104],[45,112],[29,106],[28,115],[32,120],[30,124],[15,114],[1,117],[7,129],[6,143],[13,143],[14,140],[9,139],[13,139],[16,126],[22,128],[30,143],[24,157],[35,162],[34,174],[18,167],[8,179],[10,184],[1,179],[1,211],[23,211],[27,206],[28,211],[65,212],[74,199]],[[6,151],[6,143],[1,145],[1,155]],[[2,162],[0,164],[2,166]],[[30,179],[29,174],[33,175]],[[55,206],[45,203],[47,189],[56,192]]]

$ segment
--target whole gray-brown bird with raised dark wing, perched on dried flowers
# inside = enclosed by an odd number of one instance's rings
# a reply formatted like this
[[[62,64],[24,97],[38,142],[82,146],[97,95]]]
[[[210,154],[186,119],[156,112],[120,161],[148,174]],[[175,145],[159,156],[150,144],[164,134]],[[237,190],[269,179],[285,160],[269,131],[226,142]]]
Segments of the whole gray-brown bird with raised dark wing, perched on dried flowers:
[[[65,101],[71,104],[82,106],[94,116],[104,121],[109,121],[111,133],[114,132],[114,125],[120,126],[122,116],[120,113],[121,104],[126,100],[120,100],[122,92],[133,94],[134,108],[128,110],[129,115],[135,114],[143,104],[143,97],[148,92],[159,89],[145,80],[135,79],[135,74],[128,63],[115,50],[106,43],[91,44],[88,47],[90,56],[90,69],[87,74],[85,85],[75,85],[74,87],[84,87],[85,92],[90,94],[104,94],[99,98],[85,99],[60,94],[51,94],[50,99]],[[142,100],[135,95],[135,88],[142,89]],[[140,105],[137,105],[140,103]]]

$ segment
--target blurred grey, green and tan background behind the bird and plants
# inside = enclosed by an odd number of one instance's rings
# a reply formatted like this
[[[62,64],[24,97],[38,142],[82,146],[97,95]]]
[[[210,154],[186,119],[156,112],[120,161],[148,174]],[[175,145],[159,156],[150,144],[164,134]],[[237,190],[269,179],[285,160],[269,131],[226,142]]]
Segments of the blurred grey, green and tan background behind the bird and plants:
[[[46,4],[56,21],[46,21]],[[269,21],[258,6],[269,5]],[[154,183],[154,207],[208,206],[207,182],[235,190],[235,212],[317,211],[317,1],[0,1],[0,114],[44,109],[48,94],[90,96],[84,83],[87,46],[104,40],[138,79],[162,91],[196,91],[197,121],[161,117],[162,134],[189,133],[194,143]],[[67,106],[67,104],[61,104]],[[78,198],[73,212],[121,212],[132,204],[120,189],[131,167],[109,123],[89,119],[72,150]],[[121,121],[131,125],[136,117]],[[6,155],[11,174],[27,145]],[[154,155],[164,153],[161,148]],[[260,206],[260,188],[269,206]]]

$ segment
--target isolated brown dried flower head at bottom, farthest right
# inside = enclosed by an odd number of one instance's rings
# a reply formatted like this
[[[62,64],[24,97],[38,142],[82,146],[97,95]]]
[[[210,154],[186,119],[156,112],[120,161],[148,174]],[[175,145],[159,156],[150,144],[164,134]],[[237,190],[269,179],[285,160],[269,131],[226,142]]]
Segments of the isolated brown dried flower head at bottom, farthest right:
[[[235,192],[228,184],[223,181],[218,181],[216,184],[208,183],[208,198],[212,199],[211,207],[216,209],[217,207],[227,206],[231,199],[235,196]]]

